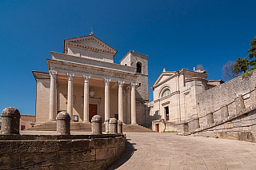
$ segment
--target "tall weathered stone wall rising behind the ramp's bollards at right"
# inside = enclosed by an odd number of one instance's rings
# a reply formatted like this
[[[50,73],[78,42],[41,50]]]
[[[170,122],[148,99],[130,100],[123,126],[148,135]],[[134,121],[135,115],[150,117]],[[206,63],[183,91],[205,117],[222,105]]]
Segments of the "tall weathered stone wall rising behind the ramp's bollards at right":
[[[212,89],[208,89],[196,96],[197,113],[200,117],[200,126],[207,124],[206,114],[213,113],[214,122],[222,120],[223,106],[227,106],[230,116],[236,114],[235,99],[242,95],[245,107],[256,103],[256,70],[249,77],[236,77]]]

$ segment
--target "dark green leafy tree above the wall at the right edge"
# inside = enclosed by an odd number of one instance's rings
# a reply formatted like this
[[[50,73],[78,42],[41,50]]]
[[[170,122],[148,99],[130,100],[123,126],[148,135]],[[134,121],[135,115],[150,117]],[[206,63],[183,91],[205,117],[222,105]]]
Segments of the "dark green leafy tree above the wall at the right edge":
[[[245,58],[238,57],[238,60],[234,64],[234,73],[245,73],[248,75],[250,71],[256,69],[256,36],[253,41],[250,42],[250,49],[248,49],[248,56]],[[249,58],[249,59],[248,59]]]

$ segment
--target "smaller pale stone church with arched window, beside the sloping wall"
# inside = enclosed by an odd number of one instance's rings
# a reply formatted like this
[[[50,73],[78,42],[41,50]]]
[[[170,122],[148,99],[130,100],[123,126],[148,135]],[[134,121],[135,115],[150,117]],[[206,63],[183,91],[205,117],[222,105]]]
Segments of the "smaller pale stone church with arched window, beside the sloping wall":
[[[178,122],[189,121],[198,116],[196,95],[220,85],[222,81],[207,81],[206,71],[181,69],[167,72],[163,69],[151,87],[154,101],[149,103],[152,129],[176,131]]]

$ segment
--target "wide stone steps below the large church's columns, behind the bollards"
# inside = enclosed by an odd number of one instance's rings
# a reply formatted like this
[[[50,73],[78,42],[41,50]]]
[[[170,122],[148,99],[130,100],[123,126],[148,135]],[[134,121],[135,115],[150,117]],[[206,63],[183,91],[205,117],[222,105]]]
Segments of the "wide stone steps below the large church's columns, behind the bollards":
[[[40,125],[34,125],[33,128],[28,128],[26,130],[30,131],[56,131],[56,122],[46,122]],[[71,122],[70,124],[71,131],[82,131],[90,132],[91,127],[90,123],[78,123]],[[102,124],[102,132],[106,131],[105,124]],[[141,125],[122,125],[122,132],[154,132],[150,128],[145,128]]]

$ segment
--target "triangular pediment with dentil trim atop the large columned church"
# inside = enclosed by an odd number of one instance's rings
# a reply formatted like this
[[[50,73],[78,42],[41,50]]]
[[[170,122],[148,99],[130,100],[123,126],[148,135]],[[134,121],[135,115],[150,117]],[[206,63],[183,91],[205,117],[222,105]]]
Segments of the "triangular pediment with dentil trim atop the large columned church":
[[[64,46],[64,53],[68,53],[68,46],[73,46],[74,48],[86,49],[91,51],[96,51],[99,53],[110,53],[113,56],[117,53],[117,50],[102,42],[100,39],[94,37],[94,35],[88,35],[79,38],[69,38],[66,39]]]

